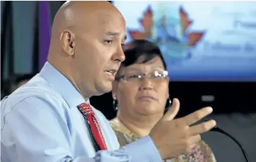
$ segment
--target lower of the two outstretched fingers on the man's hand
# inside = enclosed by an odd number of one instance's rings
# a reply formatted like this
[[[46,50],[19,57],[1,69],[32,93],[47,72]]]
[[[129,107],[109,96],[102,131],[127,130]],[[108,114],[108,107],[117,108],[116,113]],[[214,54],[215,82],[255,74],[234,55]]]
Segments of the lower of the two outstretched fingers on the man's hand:
[[[203,132],[208,132],[211,130],[213,127],[216,126],[216,121],[215,120],[209,120],[207,122],[202,122],[198,125],[195,125],[193,127],[190,127],[190,135],[198,135]]]

